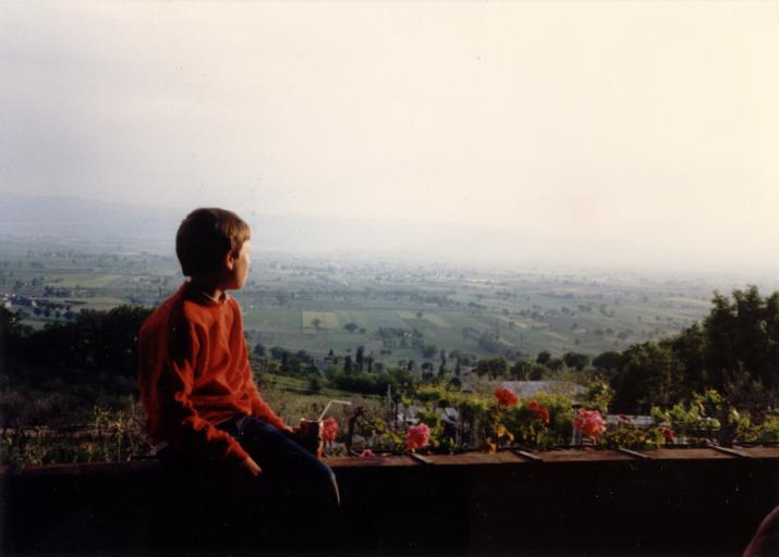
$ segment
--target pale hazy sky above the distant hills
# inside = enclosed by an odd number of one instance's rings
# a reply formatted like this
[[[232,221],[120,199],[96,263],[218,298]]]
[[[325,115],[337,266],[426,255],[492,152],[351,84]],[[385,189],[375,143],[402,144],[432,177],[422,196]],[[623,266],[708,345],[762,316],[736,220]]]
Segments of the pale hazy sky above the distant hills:
[[[777,99],[777,2],[0,3],[3,191],[779,271]]]

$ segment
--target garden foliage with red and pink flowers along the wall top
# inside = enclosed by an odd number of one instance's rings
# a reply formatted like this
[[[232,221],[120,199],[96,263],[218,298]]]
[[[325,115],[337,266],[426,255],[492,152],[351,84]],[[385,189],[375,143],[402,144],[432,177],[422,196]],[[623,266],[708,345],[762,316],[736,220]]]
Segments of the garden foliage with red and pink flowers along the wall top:
[[[402,404],[416,408],[411,421],[398,406],[381,399],[355,397],[351,407],[331,412],[327,453],[376,456],[382,451],[454,454],[494,453],[515,447],[547,450],[559,446],[652,449],[661,446],[706,446],[733,443],[779,443],[779,409],[759,420],[739,411],[716,391],[695,394],[689,404],[653,408],[654,424],[640,428],[628,416],[607,425],[598,410],[602,399],[591,397],[583,406],[561,393],[539,393],[520,399],[500,387],[492,397],[423,386],[402,395]],[[266,389],[266,397],[289,423],[318,416],[326,397],[301,396]],[[459,420],[446,419],[454,409]],[[148,458],[150,443],[143,433],[143,412],[134,399],[125,409],[95,407],[87,428],[57,431],[45,428],[7,428],[2,431],[2,463],[10,466],[57,462],[126,461]]]

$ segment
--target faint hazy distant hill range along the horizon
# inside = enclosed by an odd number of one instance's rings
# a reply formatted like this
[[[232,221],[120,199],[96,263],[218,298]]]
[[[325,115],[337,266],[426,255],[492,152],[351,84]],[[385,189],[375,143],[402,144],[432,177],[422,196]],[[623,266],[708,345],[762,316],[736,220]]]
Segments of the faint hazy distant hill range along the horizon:
[[[524,268],[539,271],[647,270],[673,274],[713,271],[774,284],[776,258],[750,259],[725,252],[716,263],[698,259],[694,246],[647,246],[631,237],[600,237],[586,223],[575,234],[398,219],[356,219],[306,214],[261,214],[232,208],[252,225],[257,252],[306,256],[366,256],[407,262],[441,261],[463,265]],[[172,252],[173,238],[187,209],[118,203],[76,197],[0,193],[0,236],[49,236],[62,240],[124,245],[130,249]],[[518,222],[521,222],[518,214]],[[684,256],[684,257],[682,257]],[[742,260],[747,259],[747,262]],[[771,262],[772,261],[772,262]],[[771,270],[766,272],[766,270]],[[741,278],[733,284],[743,283]]]

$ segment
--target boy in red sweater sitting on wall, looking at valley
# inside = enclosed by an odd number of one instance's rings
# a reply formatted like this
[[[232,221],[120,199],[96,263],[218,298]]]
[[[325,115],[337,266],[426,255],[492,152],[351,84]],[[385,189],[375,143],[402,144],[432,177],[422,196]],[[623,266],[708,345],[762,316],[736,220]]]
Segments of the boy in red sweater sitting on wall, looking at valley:
[[[336,478],[301,447],[253,380],[241,310],[249,227],[223,209],[181,223],[175,252],[190,280],[144,322],[138,336],[141,401],[160,460],[238,470],[267,482],[277,510],[305,494],[306,510],[338,506]]]

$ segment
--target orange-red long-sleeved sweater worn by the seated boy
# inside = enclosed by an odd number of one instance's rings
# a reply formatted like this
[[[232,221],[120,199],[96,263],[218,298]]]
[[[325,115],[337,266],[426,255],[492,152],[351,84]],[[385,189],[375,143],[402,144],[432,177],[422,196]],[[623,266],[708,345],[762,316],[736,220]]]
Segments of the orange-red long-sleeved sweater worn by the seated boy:
[[[238,302],[203,299],[187,283],[141,326],[141,401],[156,443],[208,460],[240,462],[246,451],[216,428],[236,414],[285,424],[252,381]]]

